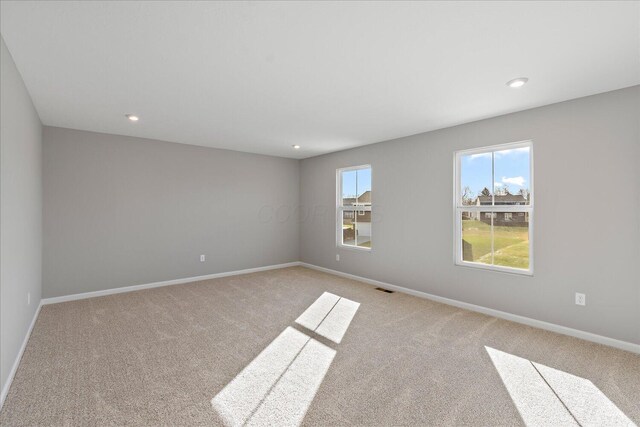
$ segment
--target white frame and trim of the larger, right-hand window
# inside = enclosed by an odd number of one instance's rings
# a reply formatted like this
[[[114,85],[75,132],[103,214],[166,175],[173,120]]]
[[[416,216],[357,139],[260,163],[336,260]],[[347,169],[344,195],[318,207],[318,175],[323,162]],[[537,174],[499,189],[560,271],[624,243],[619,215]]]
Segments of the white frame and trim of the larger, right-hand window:
[[[528,205],[493,205],[493,206],[477,206],[477,205],[471,205],[471,206],[463,206],[462,205],[462,198],[461,198],[461,194],[460,194],[460,175],[461,175],[461,168],[460,168],[460,159],[463,156],[468,156],[470,154],[481,154],[481,153],[487,153],[487,152],[493,152],[493,151],[501,151],[501,150],[510,150],[510,149],[514,149],[514,148],[522,148],[522,147],[529,147],[529,180],[530,180],[530,185],[529,185],[529,192],[530,192],[530,199],[529,199],[529,204]],[[534,236],[534,197],[535,197],[535,191],[533,188],[533,183],[534,183],[534,178],[533,178],[533,174],[534,174],[534,170],[533,170],[533,141],[531,140],[526,140],[526,141],[518,141],[518,142],[512,142],[512,143],[508,143],[508,144],[497,144],[497,145],[491,145],[491,146],[487,146],[487,147],[480,147],[480,148],[473,148],[470,150],[460,150],[460,151],[456,151],[454,153],[453,156],[453,215],[454,215],[454,242],[453,242],[453,251],[454,251],[454,263],[457,266],[461,266],[461,267],[472,267],[475,269],[481,269],[481,270],[490,270],[490,271],[497,271],[497,272],[502,272],[502,273],[511,273],[511,274],[517,274],[517,275],[524,275],[524,276],[533,276],[533,266],[534,266],[534,241],[533,241],[533,236]],[[493,171],[492,171],[492,175],[493,175]],[[494,178],[492,176],[492,178]],[[493,180],[495,181],[495,179]],[[492,183],[492,186],[494,184]],[[494,191],[492,191],[492,194],[494,193]],[[494,212],[526,212],[529,214],[529,269],[525,270],[522,268],[512,268],[512,267],[503,267],[503,266],[499,266],[499,265],[488,265],[488,264],[482,264],[482,263],[478,263],[478,262],[471,262],[471,261],[464,261],[462,259],[462,219],[461,219],[461,213],[462,212],[486,212],[486,211],[494,211]]]

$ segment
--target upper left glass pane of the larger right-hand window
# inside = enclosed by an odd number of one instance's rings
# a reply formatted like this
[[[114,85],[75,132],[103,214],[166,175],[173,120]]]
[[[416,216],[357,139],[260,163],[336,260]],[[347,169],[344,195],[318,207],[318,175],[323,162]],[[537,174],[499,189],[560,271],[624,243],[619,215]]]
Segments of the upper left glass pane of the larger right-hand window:
[[[460,198],[462,205],[491,205],[491,152],[460,158]]]

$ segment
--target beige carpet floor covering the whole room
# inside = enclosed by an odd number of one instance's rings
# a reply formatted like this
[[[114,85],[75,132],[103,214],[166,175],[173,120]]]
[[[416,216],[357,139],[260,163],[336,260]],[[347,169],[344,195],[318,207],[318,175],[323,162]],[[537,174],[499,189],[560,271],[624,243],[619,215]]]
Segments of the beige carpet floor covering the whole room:
[[[360,304],[339,343],[295,322],[325,292]],[[0,424],[221,425],[212,399],[234,403],[225,386],[283,331],[329,355],[303,425],[524,425],[531,393],[508,391],[501,354],[589,380],[640,421],[639,355],[294,267],[44,306]]]

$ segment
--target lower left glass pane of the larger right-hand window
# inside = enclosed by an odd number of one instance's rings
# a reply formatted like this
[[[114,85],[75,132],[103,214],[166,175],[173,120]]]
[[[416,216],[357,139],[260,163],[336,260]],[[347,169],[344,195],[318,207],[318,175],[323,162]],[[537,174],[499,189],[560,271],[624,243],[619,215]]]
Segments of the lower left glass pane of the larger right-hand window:
[[[491,264],[491,215],[462,212],[462,260]]]

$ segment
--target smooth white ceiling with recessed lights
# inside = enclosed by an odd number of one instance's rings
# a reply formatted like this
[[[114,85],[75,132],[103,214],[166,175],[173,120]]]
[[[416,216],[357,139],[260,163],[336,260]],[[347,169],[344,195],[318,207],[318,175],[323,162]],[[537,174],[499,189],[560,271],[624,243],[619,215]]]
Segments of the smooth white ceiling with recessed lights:
[[[2,1],[0,12],[45,125],[276,156],[640,84],[640,2]],[[520,76],[526,86],[505,86]]]

